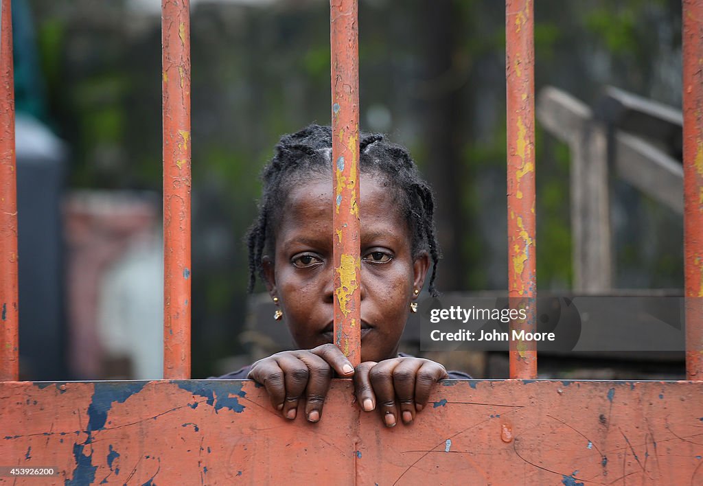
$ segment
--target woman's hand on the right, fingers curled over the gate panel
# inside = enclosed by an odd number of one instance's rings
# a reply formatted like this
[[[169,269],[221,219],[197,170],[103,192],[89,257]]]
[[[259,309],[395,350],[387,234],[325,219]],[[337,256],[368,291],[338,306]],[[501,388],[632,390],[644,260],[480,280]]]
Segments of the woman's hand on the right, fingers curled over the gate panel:
[[[356,400],[364,411],[378,407],[387,427],[394,427],[399,417],[409,424],[427,404],[434,384],[447,376],[444,366],[429,359],[398,357],[364,362],[354,373]]]

